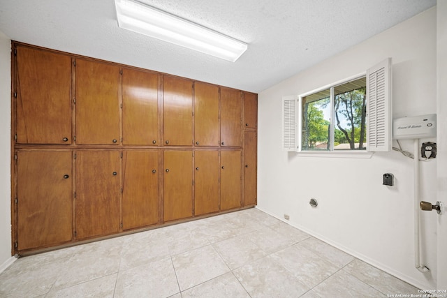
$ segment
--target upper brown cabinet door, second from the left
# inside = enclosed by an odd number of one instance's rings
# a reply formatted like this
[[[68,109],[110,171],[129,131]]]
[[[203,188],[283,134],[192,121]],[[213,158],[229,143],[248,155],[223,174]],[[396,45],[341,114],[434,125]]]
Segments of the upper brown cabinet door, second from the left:
[[[76,59],[76,143],[119,144],[119,68]]]

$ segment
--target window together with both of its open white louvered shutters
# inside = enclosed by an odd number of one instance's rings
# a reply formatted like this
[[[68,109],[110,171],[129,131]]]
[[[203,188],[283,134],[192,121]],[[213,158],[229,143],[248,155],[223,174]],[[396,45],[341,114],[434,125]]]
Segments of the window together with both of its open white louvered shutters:
[[[283,97],[283,149],[390,151],[391,59],[301,96]],[[298,98],[298,100],[297,100]]]

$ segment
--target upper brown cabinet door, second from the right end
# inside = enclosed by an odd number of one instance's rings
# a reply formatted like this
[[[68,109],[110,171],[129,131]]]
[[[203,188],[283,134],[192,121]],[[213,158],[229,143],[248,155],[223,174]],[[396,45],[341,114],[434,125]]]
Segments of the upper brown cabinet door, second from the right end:
[[[221,146],[242,146],[242,96],[221,88]]]

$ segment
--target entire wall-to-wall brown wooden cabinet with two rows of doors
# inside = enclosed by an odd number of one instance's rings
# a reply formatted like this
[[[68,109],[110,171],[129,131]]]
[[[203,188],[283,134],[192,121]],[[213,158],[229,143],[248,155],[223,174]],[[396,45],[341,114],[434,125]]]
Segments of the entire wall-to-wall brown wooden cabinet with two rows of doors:
[[[256,94],[12,45],[13,253],[256,204]]]

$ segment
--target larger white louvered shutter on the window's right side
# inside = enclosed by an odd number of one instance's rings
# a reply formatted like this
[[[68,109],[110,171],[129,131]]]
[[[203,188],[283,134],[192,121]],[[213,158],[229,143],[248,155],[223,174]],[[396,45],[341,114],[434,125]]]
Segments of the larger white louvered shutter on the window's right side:
[[[366,72],[367,151],[390,151],[391,132],[391,59]]]

